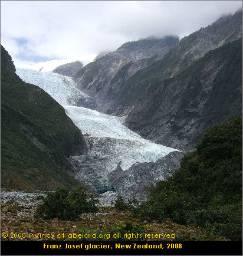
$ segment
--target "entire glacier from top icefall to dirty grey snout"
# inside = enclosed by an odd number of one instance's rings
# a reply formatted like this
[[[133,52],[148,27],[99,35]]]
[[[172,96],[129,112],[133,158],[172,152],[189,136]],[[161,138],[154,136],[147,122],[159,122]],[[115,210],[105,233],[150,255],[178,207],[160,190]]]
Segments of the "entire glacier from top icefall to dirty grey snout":
[[[90,96],[80,91],[70,77],[27,68],[17,68],[16,73],[25,82],[50,94],[80,128],[89,150],[87,155],[70,156],[73,175],[97,192],[112,190],[107,180],[117,166],[125,171],[137,163],[156,162],[170,152],[179,151],[143,139],[124,126],[124,117],[90,109],[87,104],[93,102]]]

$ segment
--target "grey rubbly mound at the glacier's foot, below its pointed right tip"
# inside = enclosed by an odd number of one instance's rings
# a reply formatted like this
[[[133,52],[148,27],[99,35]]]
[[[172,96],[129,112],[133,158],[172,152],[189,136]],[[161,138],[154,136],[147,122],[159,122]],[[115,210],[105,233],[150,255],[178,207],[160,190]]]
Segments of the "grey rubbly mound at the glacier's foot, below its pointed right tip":
[[[179,169],[182,156],[182,152],[171,152],[155,163],[137,163],[125,171],[118,165],[109,174],[110,188],[120,195],[143,195],[146,187],[167,179],[173,170]]]

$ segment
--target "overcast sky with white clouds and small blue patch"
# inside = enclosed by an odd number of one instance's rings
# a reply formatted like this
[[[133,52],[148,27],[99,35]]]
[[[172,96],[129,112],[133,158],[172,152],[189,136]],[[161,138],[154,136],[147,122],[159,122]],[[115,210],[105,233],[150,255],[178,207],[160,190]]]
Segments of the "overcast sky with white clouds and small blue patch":
[[[150,35],[180,38],[242,1],[1,1],[1,44],[15,64],[90,58]]]

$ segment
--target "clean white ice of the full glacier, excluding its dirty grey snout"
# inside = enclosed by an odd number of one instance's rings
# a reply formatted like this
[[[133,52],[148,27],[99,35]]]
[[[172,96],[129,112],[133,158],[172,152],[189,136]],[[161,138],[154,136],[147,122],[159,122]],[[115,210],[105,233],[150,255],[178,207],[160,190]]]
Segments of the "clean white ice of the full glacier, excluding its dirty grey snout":
[[[88,133],[91,137],[97,138],[98,147],[94,147],[93,152],[91,149],[88,154],[105,159],[102,161],[106,169],[105,176],[114,170],[118,163],[126,170],[134,163],[155,162],[172,151],[178,151],[143,139],[124,126],[120,117],[72,106],[77,95],[88,96],[75,87],[70,77],[22,68],[17,68],[17,74],[22,80],[41,87],[57,100],[83,134]],[[111,143],[111,139],[114,139],[114,143]],[[75,158],[78,159],[78,156]]]

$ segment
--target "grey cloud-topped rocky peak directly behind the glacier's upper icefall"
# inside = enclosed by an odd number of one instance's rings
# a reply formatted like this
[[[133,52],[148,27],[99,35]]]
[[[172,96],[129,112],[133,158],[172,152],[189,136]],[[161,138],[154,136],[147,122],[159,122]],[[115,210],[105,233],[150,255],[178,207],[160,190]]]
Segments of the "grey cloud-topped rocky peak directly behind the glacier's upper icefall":
[[[96,97],[99,111],[111,113],[117,107],[116,92],[124,80],[150,65],[155,60],[153,56],[163,57],[178,40],[178,37],[165,37],[126,42],[86,65],[75,74],[74,81],[80,90]]]

